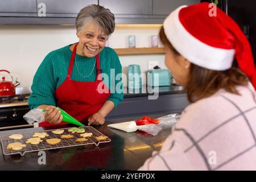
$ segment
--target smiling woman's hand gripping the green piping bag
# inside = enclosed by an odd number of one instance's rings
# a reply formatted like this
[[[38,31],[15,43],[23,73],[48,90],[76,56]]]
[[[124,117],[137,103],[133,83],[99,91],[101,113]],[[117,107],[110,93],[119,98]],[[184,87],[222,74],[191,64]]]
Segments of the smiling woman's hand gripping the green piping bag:
[[[51,124],[59,124],[63,119],[63,115],[61,115],[60,113],[61,111],[57,107],[47,106],[44,119]]]

